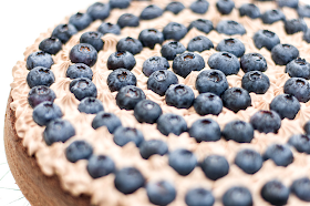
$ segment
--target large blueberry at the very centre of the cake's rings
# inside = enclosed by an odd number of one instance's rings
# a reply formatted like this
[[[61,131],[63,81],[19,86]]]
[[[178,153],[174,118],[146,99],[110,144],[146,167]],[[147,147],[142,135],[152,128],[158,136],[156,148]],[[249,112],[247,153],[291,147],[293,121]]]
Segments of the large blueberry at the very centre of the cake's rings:
[[[196,89],[199,93],[214,93],[220,96],[227,89],[228,82],[219,70],[205,70],[196,79]]]

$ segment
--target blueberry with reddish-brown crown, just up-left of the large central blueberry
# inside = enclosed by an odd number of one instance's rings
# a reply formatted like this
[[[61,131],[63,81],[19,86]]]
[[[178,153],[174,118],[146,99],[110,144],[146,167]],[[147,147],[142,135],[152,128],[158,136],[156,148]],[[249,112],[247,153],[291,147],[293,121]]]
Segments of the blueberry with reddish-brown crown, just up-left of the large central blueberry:
[[[182,53],[173,62],[173,71],[183,78],[186,78],[192,71],[200,71],[204,68],[204,58],[194,52]]]

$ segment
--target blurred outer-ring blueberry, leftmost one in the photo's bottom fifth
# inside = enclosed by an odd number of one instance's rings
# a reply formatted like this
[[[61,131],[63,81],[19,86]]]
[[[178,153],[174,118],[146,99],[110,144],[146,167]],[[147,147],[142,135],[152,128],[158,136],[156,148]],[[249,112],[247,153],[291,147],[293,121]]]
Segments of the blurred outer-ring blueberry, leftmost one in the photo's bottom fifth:
[[[93,155],[89,159],[87,172],[93,178],[106,176],[115,171],[115,164],[106,155]]]

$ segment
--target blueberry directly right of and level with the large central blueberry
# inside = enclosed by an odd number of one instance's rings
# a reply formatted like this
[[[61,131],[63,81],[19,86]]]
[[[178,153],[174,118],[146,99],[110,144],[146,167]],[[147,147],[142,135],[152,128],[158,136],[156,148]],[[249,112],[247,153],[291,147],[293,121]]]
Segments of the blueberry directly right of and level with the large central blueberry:
[[[270,86],[270,81],[262,72],[250,71],[242,76],[241,86],[248,92],[265,94]]]

